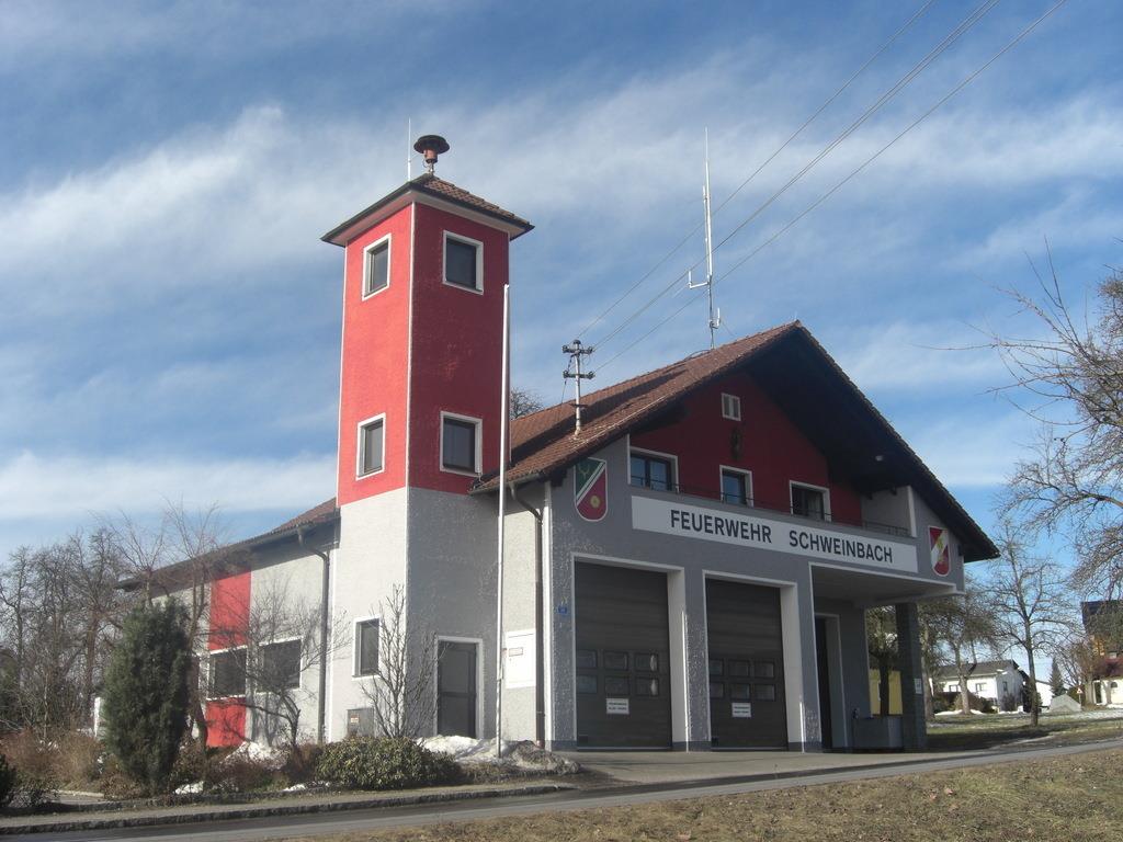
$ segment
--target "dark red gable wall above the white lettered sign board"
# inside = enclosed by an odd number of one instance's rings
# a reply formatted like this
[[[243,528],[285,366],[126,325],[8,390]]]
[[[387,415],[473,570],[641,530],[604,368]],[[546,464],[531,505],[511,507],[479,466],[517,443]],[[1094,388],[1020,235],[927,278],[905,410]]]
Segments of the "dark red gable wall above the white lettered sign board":
[[[721,417],[721,394],[741,399],[741,421]],[[678,457],[678,483],[686,494],[718,498],[721,466],[752,472],[752,497],[764,509],[787,510],[788,481],[830,488],[831,514],[861,522],[861,503],[847,485],[828,479],[827,459],[747,375],[711,384],[685,402],[683,419],[641,433],[631,443]],[[731,437],[740,430],[740,456]]]

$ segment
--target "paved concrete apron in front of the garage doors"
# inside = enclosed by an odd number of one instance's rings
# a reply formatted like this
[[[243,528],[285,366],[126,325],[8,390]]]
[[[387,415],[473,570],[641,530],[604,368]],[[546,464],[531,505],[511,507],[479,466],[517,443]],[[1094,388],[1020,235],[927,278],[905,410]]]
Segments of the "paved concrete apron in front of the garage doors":
[[[814,772],[891,766],[986,754],[985,751],[852,754],[787,751],[564,751],[590,771],[627,784],[784,778]]]

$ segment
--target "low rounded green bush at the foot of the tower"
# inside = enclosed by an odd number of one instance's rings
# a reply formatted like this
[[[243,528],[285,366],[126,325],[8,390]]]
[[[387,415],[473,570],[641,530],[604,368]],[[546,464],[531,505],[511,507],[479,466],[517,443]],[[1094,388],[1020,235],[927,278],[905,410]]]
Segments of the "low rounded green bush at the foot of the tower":
[[[317,774],[355,789],[412,789],[451,782],[458,767],[408,738],[356,736],[326,745]]]

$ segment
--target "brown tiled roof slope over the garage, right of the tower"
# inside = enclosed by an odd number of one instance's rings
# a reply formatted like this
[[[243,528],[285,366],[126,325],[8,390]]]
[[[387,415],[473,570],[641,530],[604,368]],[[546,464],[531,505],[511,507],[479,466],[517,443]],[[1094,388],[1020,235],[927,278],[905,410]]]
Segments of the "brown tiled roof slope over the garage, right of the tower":
[[[511,467],[508,482],[545,477],[594,452],[624,434],[645,419],[666,409],[688,391],[720,377],[750,356],[793,331],[800,322],[738,339],[696,354],[654,372],[582,396],[581,437],[573,434],[574,411],[569,403],[515,419],[511,424]],[[496,487],[496,476],[484,477],[478,489]]]

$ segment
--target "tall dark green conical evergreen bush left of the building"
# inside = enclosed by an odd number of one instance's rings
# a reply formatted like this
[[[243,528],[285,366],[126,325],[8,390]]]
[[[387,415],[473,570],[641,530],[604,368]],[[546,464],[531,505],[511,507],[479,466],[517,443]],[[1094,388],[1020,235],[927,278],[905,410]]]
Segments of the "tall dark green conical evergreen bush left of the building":
[[[129,613],[106,674],[106,744],[149,793],[168,788],[188,726],[190,667],[185,613],[175,600]]]

